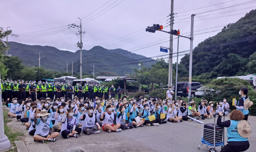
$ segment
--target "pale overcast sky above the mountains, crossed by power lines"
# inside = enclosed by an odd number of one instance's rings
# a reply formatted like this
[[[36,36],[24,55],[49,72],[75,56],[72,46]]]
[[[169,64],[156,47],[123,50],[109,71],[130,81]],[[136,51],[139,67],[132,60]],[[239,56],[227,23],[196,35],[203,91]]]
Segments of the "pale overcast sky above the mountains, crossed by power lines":
[[[234,6],[245,2],[249,3]],[[225,8],[228,6],[234,7]],[[179,29],[181,35],[188,36],[189,34],[184,33],[190,32],[190,16],[198,14],[194,18],[194,31],[211,29],[194,32],[194,34],[199,34],[194,36],[193,45],[196,47],[204,39],[220,32],[210,31],[221,30],[223,25],[236,22],[247,12],[255,9],[255,6],[255,0],[174,0],[174,29]],[[100,45],[107,49],[121,48],[146,57],[154,57],[163,54],[160,52],[160,46],[169,47],[169,41],[166,38],[170,35],[158,31],[150,34],[145,31],[145,28],[157,21],[157,24],[168,26],[170,10],[171,0],[1,0],[0,27],[6,30],[10,26],[8,29],[12,30],[12,34],[19,35],[18,38],[10,36],[8,41],[28,45],[48,45],[62,50],[75,51],[80,36],[76,36],[78,29],[69,30],[68,25],[80,24],[79,17],[84,21],[82,22],[82,32],[85,32],[82,34],[83,49],[88,50]],[[199,14],[210,10],[215,11]],[[216,26],[221,27],[213,28]],[[163,30],[170,31],[170,26]],[[200,34],[204,32],[209,33]],[[152,42],[164,43],[154,45],[156,43]],[[175,53],[177,39],[174,39],[173,43]],[[154,46],[147,47],[150,45]],[[141,49],[143,47],[146,48]],[[180,38],[179,51],[189,48],[189,39]],[[175,61],[176,58],[173,63]]]

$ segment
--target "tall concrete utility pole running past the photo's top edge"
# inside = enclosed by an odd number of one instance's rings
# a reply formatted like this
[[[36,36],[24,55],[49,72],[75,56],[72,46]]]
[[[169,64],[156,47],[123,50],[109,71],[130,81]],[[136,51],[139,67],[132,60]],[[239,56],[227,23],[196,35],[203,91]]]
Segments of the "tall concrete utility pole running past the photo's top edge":
[[[174,6],[174,0],[171,1],[170,31],[173,29],[173,6]],[[172,48],[173,48],[172,39],[173,39],[173,35],[170,34],[168,87],[172,86]]]

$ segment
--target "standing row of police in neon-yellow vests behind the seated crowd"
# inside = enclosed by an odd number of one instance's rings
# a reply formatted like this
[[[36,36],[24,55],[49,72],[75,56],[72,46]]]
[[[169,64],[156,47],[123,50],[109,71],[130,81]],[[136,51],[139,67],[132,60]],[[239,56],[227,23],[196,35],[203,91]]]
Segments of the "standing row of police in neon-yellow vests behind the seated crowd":
[[[30,97],[32,101],[38,101],[40,98],[50,98],[51,100],[54,99],[60,99],[60,97],[72,98],[72,92],[73,87],[69,82],[66,83],[60,83],[56,82],[54,85],[52,83],[48,82],[42,82],[38,81],[36,84],[36,81],[26,81],[24,83],[24,80],[18,80],[18,81],[12,81],[9,79],[6,79],[4,83],[1,83],[2,88],[2,95],[3,100],[6,101],[8,98],[13,99],[17,98],[18,100],[26,100],[26,98]],[[114,85],[112,87],[108,88],[107,85],[98,85],[98,84],[90,84],[86,83],[84,86],[82,86],[80,83],[77,83],[74,87],[74,96],[77,96],[78,98],[82,97],[84,100],[87,98],[90,100],[95,99],[95,97],[102,98],[103,96],[105,99],[108,100],[109,95],[111,95],[111,98],[115,97],[115,94],[118,93],[118,99],[120,99],[122,94],[122,89],[118,87],[116,90],[114,88]]]

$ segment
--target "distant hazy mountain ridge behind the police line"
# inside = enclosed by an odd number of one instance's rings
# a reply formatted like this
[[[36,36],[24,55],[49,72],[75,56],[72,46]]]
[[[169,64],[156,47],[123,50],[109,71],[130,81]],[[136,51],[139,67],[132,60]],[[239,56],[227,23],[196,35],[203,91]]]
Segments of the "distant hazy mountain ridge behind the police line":
[[[51,46],[26,45],[16,42],[8,42],[8,44],[10,45],[9,54],[19,56],[23,64],[28,67],[39,66],[38,58],[40,52],[40,56],[44,56],[40,59],[40,66],[46,70],[65,72],[68,62],[68,72],[71,73],[73,61],[73,73],[75,75],[80,73],[80,51],[73,53]],[[152,59],[123,49],[108,50],[101,46],[95,46],[90,50],[82,50],[82,71],[83,75],[91,75],[94,64],[94,72],[97,75],[124,76],[126,73],[132,73],[133,67],[138,68],[139,62],[150,60]],[[154,63],[156,63],[155,60],[146,62],[144,66],[150,67]]]

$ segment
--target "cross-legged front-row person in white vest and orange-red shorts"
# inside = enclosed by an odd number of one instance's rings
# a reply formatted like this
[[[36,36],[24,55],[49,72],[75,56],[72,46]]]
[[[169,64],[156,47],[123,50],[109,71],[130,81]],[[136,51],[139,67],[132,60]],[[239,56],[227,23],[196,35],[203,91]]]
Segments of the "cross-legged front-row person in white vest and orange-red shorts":
[[[100,121],[102,121],[102,130],[110,133],[112,131],[120,132],[121,124],[116,122],[116,114],[112,112],[112,107],[110,104],[105,106],[105,111],[100,116]]]

